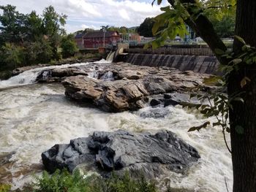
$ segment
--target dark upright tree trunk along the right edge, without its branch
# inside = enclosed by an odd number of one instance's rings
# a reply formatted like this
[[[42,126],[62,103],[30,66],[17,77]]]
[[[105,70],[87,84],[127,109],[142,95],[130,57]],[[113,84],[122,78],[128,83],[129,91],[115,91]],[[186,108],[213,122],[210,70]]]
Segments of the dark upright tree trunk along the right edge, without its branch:
[[[256,1],[238,0],[236,11],[236,35],[246,44],[256,46]],[[233,50],[241,50],[241,43],[234,42]],[[241,80],[251,82],[241,88]],[[233,161],[233,192],[256,191],[256,64],[244,64],[230,75],[227,85],[229,96],[242,93],[244,104],[233,101],[230,109],[230,131]]]

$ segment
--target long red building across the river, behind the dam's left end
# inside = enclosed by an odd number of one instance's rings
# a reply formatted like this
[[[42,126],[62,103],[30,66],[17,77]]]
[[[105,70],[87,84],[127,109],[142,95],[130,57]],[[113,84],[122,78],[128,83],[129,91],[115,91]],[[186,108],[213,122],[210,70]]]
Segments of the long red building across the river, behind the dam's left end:
[[[91,31],[83,35],[84,48],[97,48],[103,47],[104,32],[103,31]],[[120,35],[117,31],[105,32],[105,47],[116,46],[121,41]]]

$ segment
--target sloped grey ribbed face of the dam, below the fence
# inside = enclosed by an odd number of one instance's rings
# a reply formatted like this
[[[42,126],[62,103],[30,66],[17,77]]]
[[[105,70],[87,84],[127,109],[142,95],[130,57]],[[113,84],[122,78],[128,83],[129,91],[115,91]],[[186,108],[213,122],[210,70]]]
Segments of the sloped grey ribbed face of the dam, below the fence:
[[[128,53],[121,57],[121,61],[140,66],[166,66],[181,71],[218,74],[219,63],[214,56]]]

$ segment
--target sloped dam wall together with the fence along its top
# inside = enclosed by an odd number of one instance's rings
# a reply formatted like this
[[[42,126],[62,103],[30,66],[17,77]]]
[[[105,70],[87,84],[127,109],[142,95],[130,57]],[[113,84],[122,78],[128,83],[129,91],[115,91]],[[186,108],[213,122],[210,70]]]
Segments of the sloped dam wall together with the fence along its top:
[[[124,49],[124,53],[118,55],[116,61],[124,61],[139,66],[165,66],[181,71],[219,74],[217,72],[219,62],[208,47],[161,47],[157,50]]]

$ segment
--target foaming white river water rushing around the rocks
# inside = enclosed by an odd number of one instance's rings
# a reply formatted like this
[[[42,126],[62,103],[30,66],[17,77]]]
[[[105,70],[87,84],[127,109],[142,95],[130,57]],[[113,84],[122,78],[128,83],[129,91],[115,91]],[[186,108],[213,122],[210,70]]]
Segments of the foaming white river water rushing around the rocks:
[[[78,64],[86,65],[86,64]],[[54,66],[56,67],[56,66]],[[57,66],[64,67],[64,66]],[[32,69],[14,79],[0,82],[0,87],[33,83],[42,69]],[[19,80],[23,79],[22,82]],[[18,83],[20,82],[20,83]],[[18,188],[31,180],[31,172],[41,172],[41,153],[56,143],[87,137],[93,131],[157,131],[168,129],[178,134],[200,153],[198,164],[186,175],[170,172],[173,188],[192,191],[226,191],[225,177],[232,191],[232,166],[220,128],[188,133],[191,126],[205,120],[181,107],[168,107],[165,118],[142,118],[147,107],[138,112],[106,113],[79,107],[64,96],[59,84],[34,84],[0,91],[0,156],[15,152],[10,164],[0,166],[0,182],[11,182]]]

